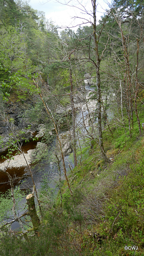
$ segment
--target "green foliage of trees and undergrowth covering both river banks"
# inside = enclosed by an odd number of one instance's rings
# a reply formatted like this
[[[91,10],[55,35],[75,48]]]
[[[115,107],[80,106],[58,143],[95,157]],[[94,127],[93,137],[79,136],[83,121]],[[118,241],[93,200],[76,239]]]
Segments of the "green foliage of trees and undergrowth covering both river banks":
[[[117,9],[111,12],[112,15],[110,14],[107,20],[104,15],[97,26],[97,36],[102,35],[99,37],[100,58],[103,52],[100,70],[101,91],[105,111],[110,111],[108,122],[112,132],[111,134],[108,130],[104,118],[102,120],[103,140],[105,150],[110,150],[111,155],[113,152],[114,162],[106,166],[101,159],[97,141],[91,141],[89,138],[85,139],[86,136],[82,136],[79,140],[81,149],[77,146],[80,164],[68,176],[73,196],[64,180],[57,186],[52,182],[49,185],[49,177],[45,174],[40,196],[44,218],[38,231],[39,236],[33,236],[31,232],[28,240],[25,240],[22,239],[21,234],[15,236],[2,231],[0,255],[117,256],[125,255],[125,244],[129,246],[133,243],[137,243],[141,249],[139,252],[129,252],[129,254],[144,254],[143,142],[136,143],[140,138],[134,113],[132,138],[129,136],[129,103],[126,102],[131,92],[134,108],[135,47],[136,38],[140,38],[140,24],[143,24],[141,2],[139,0],[114,2]],[[122,18],[121,29],[114,19],[116,11],[118,14],[116,17]],[[136,20],[135,17],[138,19]],[[104,22],[105,27],[103,27]],[[101,28],[104,28],[103,31]],[[121,31],[126,42],[125,48],[122,45]],[[144,82],[142,44],[140,40],[138,67],[140,86]],[[128,64],[125,61],[126,49],[129,58],[129,76],[126,69]],[[69,54],[71,54],[71,60]],[[43,99],[51,110],[54,109],[53,117],[57,129],[70,127],[71,112],[57,113],[59,106],[67,108],[71,103],[69,70],[72,70],[73,94],[77,94],[77,88],[83,87],[85,74],[89,73],[93,77],[93,83],[97,83],[97,70],[93,66],[95,60],[93,26],[79,27],[76,33],[66,29],[59,36],[55,26],[51,22],[47,23],[42,12],[33,10],[27,3],[21,1],[0,0],[0,96],[3,100],[8,101],[11,92],[17,95],[19,100],[32,99],[32,96],[37,93],[32,80],[35,77]],[[132,84],[130,84],[130,78],[132,78]],[[120,82],[124,118],[121,113]],[[140,95],[137,100],[138,116],[142,123],[143,93],[138,95]],[[96,100],[97,90],[91,92],[90,96]],[[23,118],[35,124],[46,123],[49,129],[45,132],[42,141],[47,145],[53,143],[55,135],[49,133],[53,128],[51,120],[43,104],[37,100],[37,96],[34,96],[34,105],[25,111]],[[8,119],[11,126],[14,126],[14,118],[8,116]],[[132,119],[130,125],[132,125]],[[6,158],[13,157],[14,151],[18,150],[18,142],[21,140],[28,142],[23,133],[19,135],[14,138],[10,134],[10,140],[6,144],[9,146]],[[81,133],[79,135],[81,136]],[[93,136],[97,136],[97,128]],[[49,148],[51,152],[48,149],[37,150],[36,161],[43,158],[43,162],[48,159],[47,162],[55,163],[53,147],[49,146]],[[73,158],[72,154],[71,158]],[[40,171],[41,168],[42,164],[39,167]],[[15,196],[19,207],[19,202],[24,196],[19,188],[15,189]],[[11,208],[12,201],[8,191],[0,198],[0,221],[9,217]]]

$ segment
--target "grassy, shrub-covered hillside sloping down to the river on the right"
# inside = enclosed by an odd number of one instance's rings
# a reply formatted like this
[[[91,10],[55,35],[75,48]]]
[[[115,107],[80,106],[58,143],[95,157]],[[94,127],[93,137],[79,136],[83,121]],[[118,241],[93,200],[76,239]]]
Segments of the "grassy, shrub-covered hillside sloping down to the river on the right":
[[[141,120],[142,116],[141,112]],[[144,255],[144,136],[138,134],[135,117],[131,139],[128,129],[125,133],[118,124],[111,128],[113,137],[105,130],[103,140],[114,162],[106,166],[96,141],[87,143],[81,149],[81,164],[68,177],[73,196],[63,181],[62,208],[60,193],[53,200],[42,198],[40,238],[22,242],[13,237],[14,253],[20,248],[22,256],[26,252],[28,256]],[[12,246],[10,240],[6,243]],[[138,246],[138,250],[125,250],[125,246]]]

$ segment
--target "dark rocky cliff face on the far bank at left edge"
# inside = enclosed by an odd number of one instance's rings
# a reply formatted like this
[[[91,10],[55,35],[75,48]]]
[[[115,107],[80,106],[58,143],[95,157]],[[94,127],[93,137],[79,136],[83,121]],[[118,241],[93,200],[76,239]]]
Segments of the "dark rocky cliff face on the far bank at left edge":
[[[37,124],[30,122],[24,117],[24,114],[27,110],[34,106],[33,99],[26,99],[24,101],[17,101],[17,97],[13,95],[8,102],[1,104],[0,106],[0,153],[6,152],[7,142],[10,138],[19,138],[21,139],[22,134],[24,133],[25,138],[30,138],[32,133],[36,131]],[[27,130],[28,126],[31,127],[30,130]],[[12,135],[13,134],[13,135]]]

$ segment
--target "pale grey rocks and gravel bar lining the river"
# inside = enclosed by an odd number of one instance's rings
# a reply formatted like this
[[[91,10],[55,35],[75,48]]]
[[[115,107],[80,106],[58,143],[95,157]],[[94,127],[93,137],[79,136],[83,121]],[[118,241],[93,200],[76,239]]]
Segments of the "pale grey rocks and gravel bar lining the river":
[[[89,93],[91,92],[91,88],[88,88],[87,94],[86,94],[86,99],[84,98],[83,91],[79,91],[78,94],[74,95],[74,102],[75,102],[75,110],[77,111],[76,114],[76,124],[81,126],[81,123],[83,125],[83,118],[87,119],[87,115],[89,113],[95,113],[95,105],[96,105],[96,100],[89,100]],[[87,100],[87,103],[86,103]],[[13,108],[12,108],[13,109]],[[34,124],[30,122],[26,122],[26,119],[23,119],[23,116],[20,117],[19,122],[15,122],[16,116],[14,114],[18,115],[20,113],[19,111],[15,109],[15,113],[13,110],[11,110],[11,126],[10,126],[10,118],[9,121],[7,122],[6,118],[2,120],[2,125],[6,126],[7,124],[7,129],[2,130],[1,126],[1,141],[3,140],[3,143],[0,144],[0,152],[1,154],[4,154],[6,150],[8,150],[8,145],[7,142],[10,141],[10,138],[17,138],[17,140],[20,140],[20,143],[23,144],[25,140],[30,140],[30,143],[32,139],[30,138],[37,138],[36,140],[36,147],[31,148],[31,145],[29,146],[29,143],[27,144],[27,150],[24,150],[24,155],[23,154],[18,154],[13,157],[11,160],[6,160],[5,162],[0,164],[0,168],[2,170],[8,169],[11,171],[13,168],[14,173],[17,176],[17,170],[19,172],[20,168],[25,168],[28,164],[36,164],[39,161],[41,161],[45,157],[45,153],[48,152],[48,146],[45,143],[39,142],[41,138],[44,136],[44,134],[47,132],[45,127],[45,124]],[[61,105],[57,105],[57,108],[55,109],[56,115],[60,116],[65,116],[65,113],[71,112],[71,106],[68,106],[64,108]],[[10,114],[10,109],[9,109],[9,114]],[[23,122],[24,121],[24,122]],[[23,123],[22,123],[23,122]],[[29,126],[29,129],[28,129]],[[10,134],[10,131],[13,130],[13,135]],[[2,131],[4,131],[2,133]],[[70,131],[66,132],[60,132],[59,133],[59,138],[61,140],[61,145],[63,148],[63,155],[68,156],[72,152],[72,140],[71,140],[71,129]],[[55,132],[54,132],[55,133]],[[53,136],[53,132],[49,132],[50,136]],[[23,138],[22,138],[23,137]],[[60,150],[59,146],[57,146],[57,152],[58,156],[60,157]],[[27,163],[26,163],[27,162]],[[39,162],[40,163],[40,162]],[[24,172],[22,175],[25,175]],[[22,177],[22,176],[19,176]]]

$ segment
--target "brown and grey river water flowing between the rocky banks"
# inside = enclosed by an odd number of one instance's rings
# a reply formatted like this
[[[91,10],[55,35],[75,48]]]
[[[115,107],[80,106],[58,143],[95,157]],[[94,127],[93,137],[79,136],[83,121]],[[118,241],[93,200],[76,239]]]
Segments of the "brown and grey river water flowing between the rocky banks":
[[[79,105],[79,111],[76,114],[76,124],[79,126],[79,133],[81,133],[81,136],[83,134],[87,133],[84,126],[89,129],[89,113],[91,113],[91,116],[95,115],[95,109],[96,109],[96,100],[89,100],[89,93],[94,90],[92,86],[85,86],[86,89],[86,100],[87,100],[87,105],[85,103],[79,103],[76,105]],[[87,109],[88,106],[88,109]],[[85,125],[84,123],[85,122]],[[97,122],[95,120],[93,123]],[[28,144],[24,144],[22,146],[22,149],[24,150],[25,153],[28,152],[30,149],[34,149],[36,147],[37,142],[36,141],[30,141]],[[55,188],[58,180],[59,180],[59,173],[57,170],[57,166],[55,162],[53,162],[50,158],[50,155],[52,154],[53,148],[55,147],[55,142],[51,144],[49,148],[49,157],[47,159],[41,160],[39,163],[36,165],[31,165],[32,168],[32,173],[33,173],[33,178],[34,182],[36,184],[37,190],[41,188],[41,182],[43,181],[43,178],[45,177],[45,180],[47,182],[47,186],[51,188]],[[69,164],[71,165],[71,168],[73,168],[73,160],[71,156],[65,156],[65,165],[67,172],[70,172]],[[18,184],[18,181],[20,183],[20,188],[25,189],[26,191],[30,190],[32,188],[32,179],[30,175],[27,175],[27,167],[19,167],[19,168],[9,168],[8,172],[12,176],[16,176],[16,182],[15,184]],[[61,175],[62,179],[64,179],[64,174],[63,174],[63,167],[61,166]],[[8,178],[5,174],[0,174],[0,192],[6,192],[10,188],[10,184],[8,182]],[[20,205],[24,205],[26,203],[26,199],[24,198],[21,202]],[[23,207],[22,207],[23,208]],[[23,214],[23,210],[19,211],[19,214]],[[14,222],[11,226],[12,230],[16,229],[19,227],[19,224],[17,222]]]

